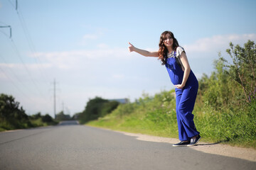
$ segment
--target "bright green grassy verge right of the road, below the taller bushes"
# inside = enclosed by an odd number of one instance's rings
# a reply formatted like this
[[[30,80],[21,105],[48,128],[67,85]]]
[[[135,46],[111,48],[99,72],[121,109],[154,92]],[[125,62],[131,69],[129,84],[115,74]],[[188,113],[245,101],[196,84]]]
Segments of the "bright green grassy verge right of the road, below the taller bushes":
[[[200,98],[198,99],[200,100]],[[109,115],[87,125],[178,138],[174,91],[163,91],[154,97],[144,95],[134,103],[119,105]],[[256,102],[243,108],[215,111],[197,101],[193,114],[196,128],[204,142],[256,148]]]

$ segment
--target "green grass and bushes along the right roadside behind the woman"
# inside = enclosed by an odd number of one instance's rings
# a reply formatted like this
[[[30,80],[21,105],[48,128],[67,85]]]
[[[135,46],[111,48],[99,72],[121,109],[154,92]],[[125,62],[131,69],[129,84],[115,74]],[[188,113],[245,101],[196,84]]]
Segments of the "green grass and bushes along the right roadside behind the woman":
[[[226,52],[229,57],[219,54],[210,76],[198,79],[193,111],[196,128],[206,142],[256,148],[256,45],[248,40],[243,47],[234,47],[230,42]],[[143,94],[133,103],[119,104],[109,114],[87,121],[87,125],[178,137],[175,108],[174,90]]]

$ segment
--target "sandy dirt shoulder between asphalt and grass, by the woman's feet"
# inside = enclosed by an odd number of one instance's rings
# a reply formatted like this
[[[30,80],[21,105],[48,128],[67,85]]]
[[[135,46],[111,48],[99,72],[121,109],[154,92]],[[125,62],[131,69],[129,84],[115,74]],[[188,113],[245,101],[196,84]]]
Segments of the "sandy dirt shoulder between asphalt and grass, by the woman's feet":
[[[178,139],[168,137],[156,137],[151,135],[134,134],[129,132],[122,132],[124,135],[137,137],[137,140],[144,140],[149,142],[166,142],[174,144],[179,142]],[[198,142],[197,146],[190,147],[197,151],[205,152],[208,154],[219,154],[226,157],[236,157],[256,162],[256,149],[232,147],[230,145]]]

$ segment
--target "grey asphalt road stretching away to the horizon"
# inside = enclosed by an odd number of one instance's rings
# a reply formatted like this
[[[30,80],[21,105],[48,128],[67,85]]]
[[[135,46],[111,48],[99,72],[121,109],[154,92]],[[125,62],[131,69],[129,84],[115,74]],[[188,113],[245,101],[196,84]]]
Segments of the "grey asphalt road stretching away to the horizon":
[[[256,169],[256,162],[63,122],[0,133],[0,169]]]

